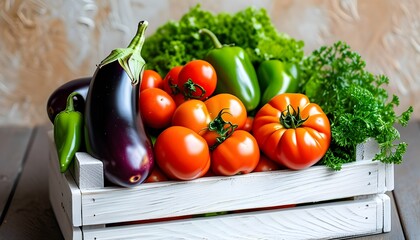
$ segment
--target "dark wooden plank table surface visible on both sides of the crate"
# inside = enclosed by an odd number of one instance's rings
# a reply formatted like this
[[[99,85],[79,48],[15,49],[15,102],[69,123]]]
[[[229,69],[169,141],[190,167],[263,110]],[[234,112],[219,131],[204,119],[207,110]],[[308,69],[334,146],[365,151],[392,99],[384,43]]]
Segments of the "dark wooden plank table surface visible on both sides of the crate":
[[[51,125],[0,127],[0,239],[63,239],[48,198]],[[420,122],[399,128],[409,144],[395,166],[392,230],[357,239],[420,239]]]

